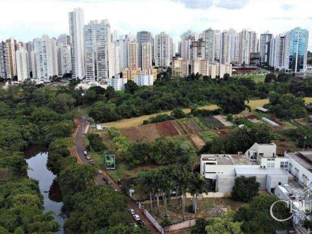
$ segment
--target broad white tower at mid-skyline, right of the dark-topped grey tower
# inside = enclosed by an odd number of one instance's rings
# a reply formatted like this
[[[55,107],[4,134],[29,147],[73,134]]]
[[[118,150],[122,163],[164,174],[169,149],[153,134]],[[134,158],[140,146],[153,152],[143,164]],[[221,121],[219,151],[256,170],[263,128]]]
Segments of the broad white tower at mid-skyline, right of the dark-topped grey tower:
[[[165,32],[155,36],[155,64],[156,66],[170,66],[172,61],[172,39]]]

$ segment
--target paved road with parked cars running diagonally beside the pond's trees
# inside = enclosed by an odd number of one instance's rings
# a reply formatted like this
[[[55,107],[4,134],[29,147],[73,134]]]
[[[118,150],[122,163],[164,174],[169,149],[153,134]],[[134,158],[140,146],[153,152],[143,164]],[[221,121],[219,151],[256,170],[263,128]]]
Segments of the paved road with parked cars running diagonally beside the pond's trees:
[[[76,152],[78,155],[79,160],[83,163],[83,164],[89,164],[89,160],[85,158],[83,151],[84,149],[84,141],[83,141],[83,134],[84,134],[84,130],[86,128],[86,126],[88,125],[86,117],[83,116],[82,119],[80,120],[80,125],[77,129],[76,132],[76,136],[75,136],[75,140],[76,140]],[[106,176],[106,178],[108,178],[111,183],[112,186],[115,188],[115,190],[117,190],[116,193],[120,192],[120,188],[119,186],[114,182],[114,180],[108,175],[106,174],[106,172],[103,171],[102,175],[98,175],[96,178],[96,183],[97,184],[102,184],[104,186],[107,186],[105,181],[103,180],[103,177]],[[137,203],[136,201],[129,199],[128,202],[128,207],[126,208],[126,211],[128,211],[129,209],[134,209],[136,214],[140,216],[140,218],[144,221],[145,225],[151,230],[152,234],[157,234],[158,231],[156,230],[156,228],[154,227],[154,225],[152,224],[152,222],[138,209],[137,207]]]

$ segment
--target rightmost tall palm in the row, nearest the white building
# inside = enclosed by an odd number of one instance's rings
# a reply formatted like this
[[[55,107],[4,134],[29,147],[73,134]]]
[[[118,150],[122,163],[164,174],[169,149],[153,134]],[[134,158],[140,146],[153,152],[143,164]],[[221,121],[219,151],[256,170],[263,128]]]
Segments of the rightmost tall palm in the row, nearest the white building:
[[[197,216],[197,196],[205,192],[205,179],[199,173],[193,174],[190,178],[189,191],[193,195],[193,211],[195,218]]]

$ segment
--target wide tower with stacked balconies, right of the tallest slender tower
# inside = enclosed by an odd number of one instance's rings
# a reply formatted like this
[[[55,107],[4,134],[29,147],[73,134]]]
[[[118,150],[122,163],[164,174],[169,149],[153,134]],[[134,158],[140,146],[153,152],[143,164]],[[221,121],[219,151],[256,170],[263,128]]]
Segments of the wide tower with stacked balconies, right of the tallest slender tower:
[[[101,20],[100,22],[93,20],[83,27],[85,76],[87,80],[109,78],[110,30],[108,20]]]

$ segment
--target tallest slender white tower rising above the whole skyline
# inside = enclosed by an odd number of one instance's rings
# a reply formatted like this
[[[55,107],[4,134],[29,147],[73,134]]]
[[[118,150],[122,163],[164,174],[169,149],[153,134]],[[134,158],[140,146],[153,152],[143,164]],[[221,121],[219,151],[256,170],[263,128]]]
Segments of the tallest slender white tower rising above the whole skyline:
[[[84,14],[81,8],[69,13],[69,35],[71,41],[72,77],[82,79],[84,72],[83,46]]]

